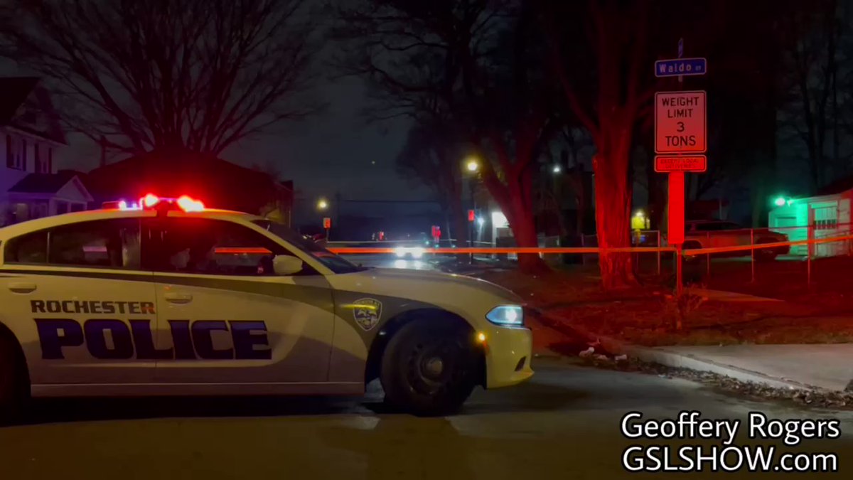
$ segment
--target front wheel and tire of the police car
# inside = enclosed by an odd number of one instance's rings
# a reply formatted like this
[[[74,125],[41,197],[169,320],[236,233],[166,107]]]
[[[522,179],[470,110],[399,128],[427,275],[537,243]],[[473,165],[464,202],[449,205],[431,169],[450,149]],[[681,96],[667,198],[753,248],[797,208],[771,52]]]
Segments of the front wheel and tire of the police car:
[[[416,319],[391,338],[380,382],[386,404],[415,415],[456,413],[477,383],[473,333],[453,319]]]

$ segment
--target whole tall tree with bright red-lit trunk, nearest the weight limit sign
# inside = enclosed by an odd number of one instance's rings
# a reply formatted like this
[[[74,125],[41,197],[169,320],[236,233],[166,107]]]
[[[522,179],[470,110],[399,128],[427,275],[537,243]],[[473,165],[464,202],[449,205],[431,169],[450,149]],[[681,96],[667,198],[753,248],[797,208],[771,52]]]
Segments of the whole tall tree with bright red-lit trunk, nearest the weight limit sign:
[[[646,1],[590,0],[560,7],[540,3],[551,45],[550,67],[560,79],[572,113],[595,143],[598,244],[604,249],[630,247],[633,136],[653,93],[648,79],[652,6]],[[558,31],[557,18],[583,19],[586,30],[578,38],[573,26],[560,29],[572,31],[566,35]],[[569,58],[583,59],[581,67],[569,68]],[[590,65],[594,67],[585,70]],[[586,98],[592,101],[586,102]],[[606,288],[636,283],[630,254],[602,253],[599,265]]]

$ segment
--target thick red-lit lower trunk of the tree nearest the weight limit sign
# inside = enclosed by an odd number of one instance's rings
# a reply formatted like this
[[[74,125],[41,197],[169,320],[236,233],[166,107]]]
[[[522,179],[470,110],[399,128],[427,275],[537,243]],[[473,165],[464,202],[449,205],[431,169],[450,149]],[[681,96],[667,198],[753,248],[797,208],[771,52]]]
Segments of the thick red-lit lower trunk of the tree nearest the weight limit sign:
[[[601,249],[630,247],[630,208],[632,189],[625,174],[629,166],[629,149],[617,145],[609,158],[596,155],[595,225]],[[607,152],[607,150],[605,150]],[[629,252],[599,255],[601,284],[605,289],[630,287],[637,283]]]

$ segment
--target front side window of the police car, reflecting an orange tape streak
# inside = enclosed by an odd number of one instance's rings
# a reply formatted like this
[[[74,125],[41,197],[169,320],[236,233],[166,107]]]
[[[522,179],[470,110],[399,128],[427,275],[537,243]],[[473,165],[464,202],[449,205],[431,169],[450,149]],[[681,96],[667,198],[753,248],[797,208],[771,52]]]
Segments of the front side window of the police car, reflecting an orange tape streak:
[[[275,275],[273,258],[290,255],[257,231],[225,220],[165,218],[148,225],[143,259],[155,272]]]

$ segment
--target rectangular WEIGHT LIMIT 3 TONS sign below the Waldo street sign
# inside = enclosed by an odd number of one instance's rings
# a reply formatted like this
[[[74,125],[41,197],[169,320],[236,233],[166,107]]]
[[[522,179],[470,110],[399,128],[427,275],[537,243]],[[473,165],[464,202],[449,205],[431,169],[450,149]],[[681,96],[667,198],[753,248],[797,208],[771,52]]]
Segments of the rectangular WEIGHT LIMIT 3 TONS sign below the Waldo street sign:
[[[704,153],[707,149],[705,137],[705,91],[654,94],[655,153]]]

